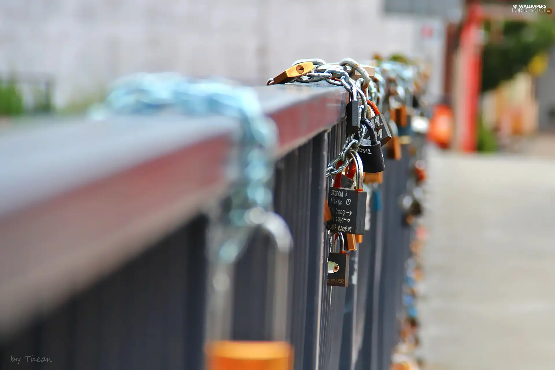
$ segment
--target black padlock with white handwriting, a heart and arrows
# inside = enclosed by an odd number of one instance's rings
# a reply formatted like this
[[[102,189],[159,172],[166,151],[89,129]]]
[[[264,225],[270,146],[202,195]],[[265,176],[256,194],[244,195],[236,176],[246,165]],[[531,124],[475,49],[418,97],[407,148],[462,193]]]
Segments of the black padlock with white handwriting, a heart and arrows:
[[[361,160],[356,152],[349,151],[355,161],[355,189],[362,190]],[[345,187],[330,187],[327,202],[330,206],[332,219],[327,221],[327,230],[348,232],[349,234],[364,234],[366,218],[366,192],[347,189]]]

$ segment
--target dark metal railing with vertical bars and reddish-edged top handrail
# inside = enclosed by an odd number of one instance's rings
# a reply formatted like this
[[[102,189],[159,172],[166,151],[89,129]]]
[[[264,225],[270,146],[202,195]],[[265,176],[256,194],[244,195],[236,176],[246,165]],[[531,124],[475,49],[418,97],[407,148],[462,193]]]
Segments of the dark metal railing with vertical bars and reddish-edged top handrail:
[[[412,234],[398,205],[408,146],[401,161],[386,160],[372,193],[382,205],[374,199],[371,229],[351,252],[356,280],[327,286],[325,169],[345,138],[346,91],[324,83],[256,91],[279,128],[274,204],[294,238],[295,369],[387,369]],[[203,367],[206,231],[230,185],[235,130],[221,117],[157,115],[0,136],[0,368],[27,355],[51,359],[45,369]],[[231,339],[271,339],[267,244],[255,235],[236,266]]]

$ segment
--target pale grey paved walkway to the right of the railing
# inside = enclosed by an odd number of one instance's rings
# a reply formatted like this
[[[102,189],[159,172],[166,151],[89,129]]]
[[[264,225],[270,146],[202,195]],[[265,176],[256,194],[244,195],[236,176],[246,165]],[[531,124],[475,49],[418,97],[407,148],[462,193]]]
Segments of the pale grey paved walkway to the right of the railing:
[[[555,369],[555,159],[530,154],[430,153],[427,370]]]

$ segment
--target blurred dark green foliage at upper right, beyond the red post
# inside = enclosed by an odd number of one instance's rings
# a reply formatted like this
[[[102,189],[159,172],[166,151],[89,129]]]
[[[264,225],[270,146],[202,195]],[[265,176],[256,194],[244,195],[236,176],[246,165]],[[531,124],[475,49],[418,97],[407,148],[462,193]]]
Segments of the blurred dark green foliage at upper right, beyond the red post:
[[[491,24],[484,25],[486,33]],[[522,72],[532,58],[555,44],[555,22],[541,17],[536,22],[506,21],[503,38],[496,43],[488,37],[482,56],[482,92],[496,89],[503,81]]]

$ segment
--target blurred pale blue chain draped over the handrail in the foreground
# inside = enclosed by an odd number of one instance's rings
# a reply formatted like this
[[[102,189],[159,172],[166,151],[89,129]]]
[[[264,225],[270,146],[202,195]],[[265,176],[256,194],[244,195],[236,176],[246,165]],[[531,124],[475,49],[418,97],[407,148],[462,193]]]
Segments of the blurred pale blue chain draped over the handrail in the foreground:
[[[94,118],[109,115],[147,114],[178,111],[188,115],[221,114],[240,122],[239,152],[236,157],[239,176],[230,191],[231,209],[221,220],[216,259],[233,263],[243,250],[250,231],[276,217],[273,192],[278,130],[266,118],[254,90],[230,85],[220,80],[193,80],[174,73],[135,74],[118,80],[102,105],[91,110]],[[285,224],[285,221],[282,222]],[[281,227],[281,226],[280,226]],[[285,225],[286,228],[286,225]],[[283,227],[274,229],[283,229]],[[287,244],[289,230],[281,230]],[[276,234],[276,233],[274,233]],[[286,235],[289,234],[289,235]],[[280,246],[280,236],[274,235]]]

